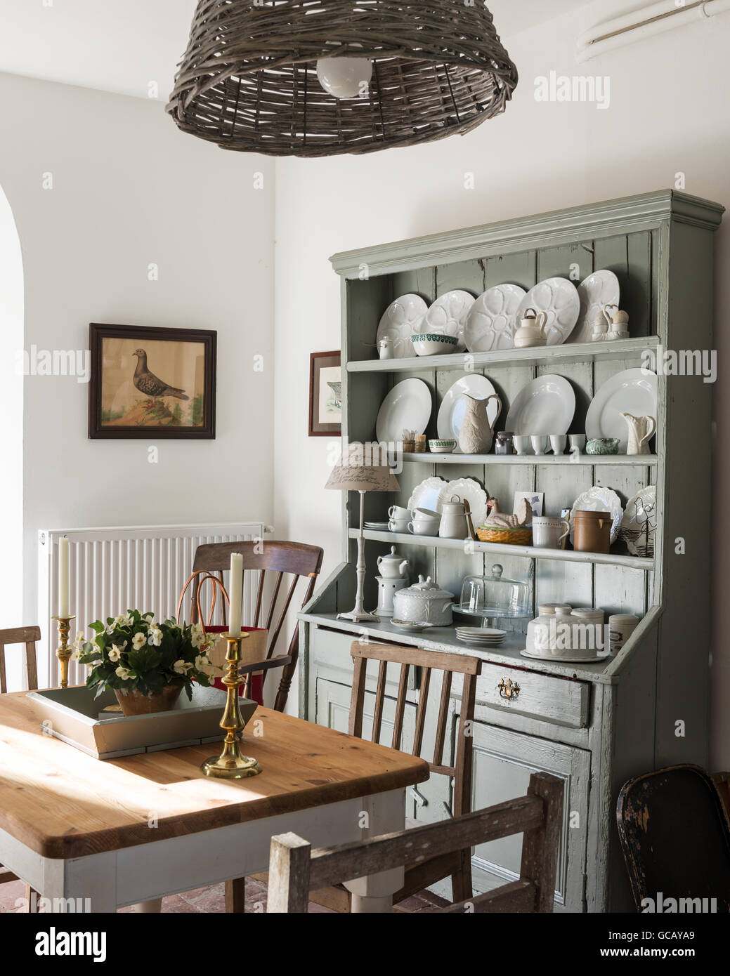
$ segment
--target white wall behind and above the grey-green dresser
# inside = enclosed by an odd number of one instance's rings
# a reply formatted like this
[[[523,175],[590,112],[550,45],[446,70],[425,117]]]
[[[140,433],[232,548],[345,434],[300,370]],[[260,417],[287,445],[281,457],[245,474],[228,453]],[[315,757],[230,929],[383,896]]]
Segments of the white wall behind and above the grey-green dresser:
[[[520,70],[520,85],[506,113],[469,136],[365,157],[278,162],[275,519],[280,535],[324,547],[324,575],[341,556],[340,499],[322,490],[327,440],[307,437],[304,405],[310,352],[339,346],[339,279],[329,255],[672,186],[679,171],[686,175],[688,192],[730,203],[730,15],[577,65],[580,32],[625,6],[594,4],[583,17],[568,15],[503,36]],[[551,69],[610,75],[610,108],[537,103],[534,79]],[[473,190],[464,189],[468,172],[475,176]],[[723,422],[728,412],[723,389],[730,383],[729,357],[723,353],[729,344],[722,328],[729,307],[726,221],[716,249],[718,500],[730,490]],[[730,513],[719,501],[714,519],[714,578],[720,593],[721,581],[730,576]],[[724,613],[719,599],[715,612],[719,624]],[[712,768],[720,769],[730,766],[730,647],[719,627],[715,633]]]

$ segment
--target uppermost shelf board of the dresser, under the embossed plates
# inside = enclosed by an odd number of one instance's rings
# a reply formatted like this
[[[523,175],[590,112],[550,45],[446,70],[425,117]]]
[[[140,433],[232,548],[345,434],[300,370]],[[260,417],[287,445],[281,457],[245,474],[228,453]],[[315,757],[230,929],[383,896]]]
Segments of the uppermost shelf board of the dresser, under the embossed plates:
[[[629,325],[630,328],[630,325]],[[561,363],[599,362],[628,359],[659,345],[658,336],[618,339],[603,343],[574,343],[563,346],[533,346],[528,349],[499,349],[495,352],[450,352],[443,356],[409,356],[405,359],[356,359],[347,363],[348,373],[417,373],[424,369],[484,369],[489,366],[560,366]]]

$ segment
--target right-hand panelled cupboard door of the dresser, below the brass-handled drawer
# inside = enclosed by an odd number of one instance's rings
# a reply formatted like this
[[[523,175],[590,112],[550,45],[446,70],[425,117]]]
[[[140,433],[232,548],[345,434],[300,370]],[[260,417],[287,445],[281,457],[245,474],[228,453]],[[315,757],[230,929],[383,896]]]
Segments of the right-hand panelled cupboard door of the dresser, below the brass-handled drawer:
[[[530,775],[552,773],[565,783],[555,911],[583,912],[590,753],[534,736],[474,723],[474,809],[527,793]],[[477,847],[474,886],[481,891],[520,875],[522,834]]]

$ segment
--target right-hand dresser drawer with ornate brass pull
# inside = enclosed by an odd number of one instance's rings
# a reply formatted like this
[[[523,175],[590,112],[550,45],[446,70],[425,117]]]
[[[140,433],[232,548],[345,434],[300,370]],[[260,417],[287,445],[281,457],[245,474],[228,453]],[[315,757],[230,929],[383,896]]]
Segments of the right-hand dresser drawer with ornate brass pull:
[[[537,671],[482,664],[477,679],[477,704],[517,712],[570,728],[588,723],[590,685],[586,681],[550,677]]]

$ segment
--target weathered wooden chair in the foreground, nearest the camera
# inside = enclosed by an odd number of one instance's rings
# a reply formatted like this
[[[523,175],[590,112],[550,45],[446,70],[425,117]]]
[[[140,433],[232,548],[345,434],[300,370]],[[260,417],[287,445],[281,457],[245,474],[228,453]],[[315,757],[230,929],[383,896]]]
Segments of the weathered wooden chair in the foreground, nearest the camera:
[[[425,911],[452,915],[552,912],[563,794],[564,784],[556,776],[533,773],[527,795],[441,824],[314,851],[296,834],[272,837],[267,913],[306,914],[311,890],[400,868],[413,861],[414,851],[418,851],[416,863],[435,862],[512,834],[524,834],[519,880],[484,895],[471,897],[470,893],[446,908]]]

